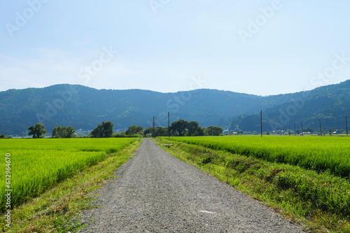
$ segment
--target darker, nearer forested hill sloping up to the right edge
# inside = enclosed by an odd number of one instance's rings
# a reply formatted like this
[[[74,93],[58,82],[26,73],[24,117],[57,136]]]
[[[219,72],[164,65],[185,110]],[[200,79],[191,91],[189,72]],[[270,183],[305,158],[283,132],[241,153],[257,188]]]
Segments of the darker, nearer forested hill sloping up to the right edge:
[[[346,129],[345,115],[350,117],[350,80],[337,85],[318,87],[309,92],[299,92],[286,103],[267,108],[262,113],[263,131],[276,129],[294,130],[310,127],[317,131]],[[349,118],[350,123],[350,118]],[[302,125],[301,125],[302,124]],[[242,115],[233,120],[230,130],[260,132],[260,114]]]

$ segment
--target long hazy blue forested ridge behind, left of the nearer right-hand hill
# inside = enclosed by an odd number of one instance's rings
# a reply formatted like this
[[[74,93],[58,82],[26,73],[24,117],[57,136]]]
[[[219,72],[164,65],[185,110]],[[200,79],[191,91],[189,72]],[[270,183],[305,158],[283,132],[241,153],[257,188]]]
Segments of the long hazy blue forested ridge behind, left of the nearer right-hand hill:
[[[239,115],[282,104],[293,94],[259,97],[219,90],[160,93],[148,90],[96,90],[82,85],[52,85],[44,88],[0,92],[0,134],[25,135],[30,125],[42,122],[48,133],[54,127],[93,129],[111,121],[114,129],[130,125],[149,127],[171,121],[196,120],[201,126],[225,127]]]

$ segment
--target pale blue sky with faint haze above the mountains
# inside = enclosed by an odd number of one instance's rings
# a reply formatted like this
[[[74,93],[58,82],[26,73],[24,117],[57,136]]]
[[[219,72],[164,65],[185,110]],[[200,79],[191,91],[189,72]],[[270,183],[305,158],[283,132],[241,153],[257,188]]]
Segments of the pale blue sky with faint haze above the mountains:
[[[80,84],[262,96],[350,79],[350,1],[16,0],[0,91]]]

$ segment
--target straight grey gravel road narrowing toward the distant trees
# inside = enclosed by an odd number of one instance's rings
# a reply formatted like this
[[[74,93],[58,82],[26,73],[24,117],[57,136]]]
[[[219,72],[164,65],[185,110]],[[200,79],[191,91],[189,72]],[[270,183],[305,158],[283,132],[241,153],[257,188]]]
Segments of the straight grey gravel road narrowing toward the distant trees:
[[[304,232],[151,139],[116,174],[82,213],[87,232]]]

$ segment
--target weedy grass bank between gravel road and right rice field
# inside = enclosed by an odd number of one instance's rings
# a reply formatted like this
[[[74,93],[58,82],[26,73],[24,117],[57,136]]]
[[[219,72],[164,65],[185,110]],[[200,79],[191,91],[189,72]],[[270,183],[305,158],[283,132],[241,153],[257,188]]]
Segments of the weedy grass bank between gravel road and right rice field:
[[[350,183],[345,178],[167,138],[155,142],[174,144],[162,148],[309,232],[350,232]]]

